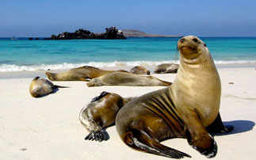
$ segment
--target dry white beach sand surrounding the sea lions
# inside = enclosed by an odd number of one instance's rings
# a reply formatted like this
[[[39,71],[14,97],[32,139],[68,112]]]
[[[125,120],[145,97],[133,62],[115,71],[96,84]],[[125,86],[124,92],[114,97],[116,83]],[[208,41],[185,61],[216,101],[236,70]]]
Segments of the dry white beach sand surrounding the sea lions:
[[[220,113],[224,124],[235,130],[216,135],[218,154],[214,159],[256,158],[256,70],[254,67],[218,68],[222,82]],[[32,74],[30,74],[32,75]],[[153,74],[173,82],[175,74]],[[35,74],[36,76],[36,74]],[[71,88],[59,89],[46,97],[29,94],[29,76],[0,79],[0,159],[2,160],[158,160],[168,159],[132,150],[121,142],[115,127],[107,129],[110,139],[97,143],[85,141],[88,134],[78,120],[80,109],[102,91],[124,97],[139,96],[163,87],[101,86],[88,88],[86,82],[55,82]],[[233,82],[234,84],[229,84]],[[163,142],[168,147],[208,159],[189,147],[186,139]]]

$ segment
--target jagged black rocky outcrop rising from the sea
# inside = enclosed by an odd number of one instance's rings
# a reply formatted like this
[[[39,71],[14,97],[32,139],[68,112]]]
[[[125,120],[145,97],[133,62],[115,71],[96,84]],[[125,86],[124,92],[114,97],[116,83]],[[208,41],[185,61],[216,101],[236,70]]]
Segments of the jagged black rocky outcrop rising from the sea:
[[[105,39],[105,40],[121,40],[126,39],[123,32],[116,27],[109,27],[103,33],[94,33],[89,30],[78,29],[75,32],[61,32],[58,36],[52,35],[51,38],[44,40],[73,40],[73,39]]]

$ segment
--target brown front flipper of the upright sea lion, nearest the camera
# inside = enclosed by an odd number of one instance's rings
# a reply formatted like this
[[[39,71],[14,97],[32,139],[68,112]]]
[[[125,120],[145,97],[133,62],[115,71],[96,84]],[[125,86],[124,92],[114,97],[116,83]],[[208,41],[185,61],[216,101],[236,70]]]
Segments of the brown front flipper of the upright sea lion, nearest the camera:
[[[207,158],[213,158],[217,154],[217,144],[208,133],[201,122],[197,109],[195,112],[189,112],[189,117],[185,117],[184,123],[187,128],[186,135],[190,146],[204,154]]]

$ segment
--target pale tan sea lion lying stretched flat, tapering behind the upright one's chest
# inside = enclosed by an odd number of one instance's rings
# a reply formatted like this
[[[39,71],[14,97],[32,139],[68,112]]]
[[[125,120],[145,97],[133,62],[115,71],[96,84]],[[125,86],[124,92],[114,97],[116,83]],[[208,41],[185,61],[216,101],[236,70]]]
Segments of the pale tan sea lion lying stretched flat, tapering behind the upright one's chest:
[[[171,82],[165,82],[153,76],[113,72],[99,78],[93,78],[87,82],[87,86],[170,86]]]

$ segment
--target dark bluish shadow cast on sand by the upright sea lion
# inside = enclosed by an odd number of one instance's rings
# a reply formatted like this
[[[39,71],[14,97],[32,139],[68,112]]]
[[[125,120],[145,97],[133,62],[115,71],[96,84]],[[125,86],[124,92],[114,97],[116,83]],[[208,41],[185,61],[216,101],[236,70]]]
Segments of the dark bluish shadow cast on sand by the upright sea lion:
[[[232,125],[234,126],[234,130],[231,131],[230,133],[217,133],[216,136],[218,135],[233,135],[237,133],[243,133],[246,131],[250,131],[254,128],[255,123],[250,120],[233,120],[229,122],[224,122],[224,125]]]

